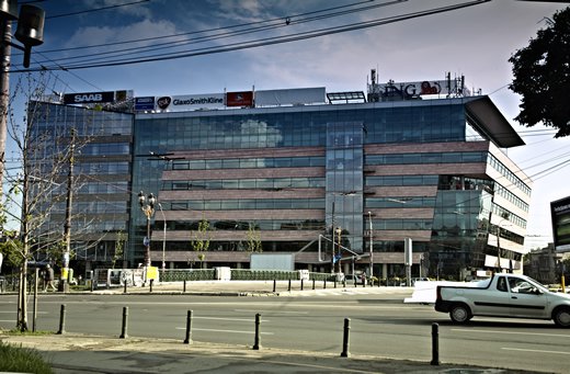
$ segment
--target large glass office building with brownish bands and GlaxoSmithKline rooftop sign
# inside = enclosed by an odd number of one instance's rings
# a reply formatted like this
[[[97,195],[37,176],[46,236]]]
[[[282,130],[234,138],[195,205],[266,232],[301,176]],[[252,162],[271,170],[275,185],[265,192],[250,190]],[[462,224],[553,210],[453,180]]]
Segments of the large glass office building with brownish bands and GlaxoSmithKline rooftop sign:
[[[48,127],[101,123],[104,134],[93,133],[78,160],[90,186],[76,204],[102,215],[92,233],[104,234],[109,252],[116,233],[128,233],[130,267],[145,256],[144,191],[160,203],[150,241],[159,267],[164,258],[168,268],[249,268],[260,241],[263,252],[294,253],[297,269],[338,270],[341,258],[346,273],[354,261],[401,276],[411,238],[414,275],[420,267],[460,279],[522,272],[532,183],[501,150],[524,145],[521,137],[488,97],[444,82],[389,84],[373,82],[367,95],[315,88],[135,98],[134,116],[42,106],[60,113]],[[196,240],[208,245],[202,259]]]

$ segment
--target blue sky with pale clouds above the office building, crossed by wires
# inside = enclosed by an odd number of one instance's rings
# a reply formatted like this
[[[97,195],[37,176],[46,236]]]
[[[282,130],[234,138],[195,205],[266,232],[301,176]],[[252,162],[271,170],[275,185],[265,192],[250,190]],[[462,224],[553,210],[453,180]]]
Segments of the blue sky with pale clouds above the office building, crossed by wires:
[[[137,54],[141,48],[172,42],[168,36],[175,34],[181,34],[176,37],[181,43],[203,37],[206,34],[196,32],[206,30],[209,36],[223,32],[232,36],[200,44],[194,41],[149,54],[180,56],[196,48],[219,49],[246,41],[275,39],[469,2],[472,1],[45,0],[34,3],[46,11],[47,19],[45,43],[34,48],[32,68],[90,66],[113,56],[99,55],[112,49],[119,49],[124,55],[114,58],[140,60],[145,58]],[[132,4],[95,11],[125,3]],[[347,10],[355,7],[349,4],[371,9],[351,13]],[[464,75],[469,88],[490,94],[527,144],[508,154],[534,180],[526,242],[535,248],[551,241],[549,202],[570,195],[566,178],[570,168],[549,169],[565,160],[568,163],[570,139],[554,139],[551,131],[528,129],[512,121],[517,114],[520,98],[506,88],[512,79],[508,59],[517,48],[526,46],[537,30],[546,26],[544,18],[550,18],[566,5],[493,0],[286,44],[125,66],[55,69],[49,72],[53,78],[49,89],[67,93],[130,89],[135,95],[215,93],[252,87],[256,90],[326,87],[329,92],[365,91],[372,68],[378,70],[380,82],[438,80],[447,71],[452,76]],[[326,13],[319,11],[326,9],[342,14],[322,16]],[[309,18],[315,20],[306,22]],[[274,20],[273,23],[263,23],[270,20]],[[228,29],[243,24],[271,24],[272,27],[239,36],[236,31],[243,29]],[[146,41],[134,42],[139,39]],[[118,42],[128,43],[105,45]],[[92,45],[105,46],[70,49]],[[20,75],[15,72],[21,69],[21,56],[16,52],[12,64],[12,75]]]

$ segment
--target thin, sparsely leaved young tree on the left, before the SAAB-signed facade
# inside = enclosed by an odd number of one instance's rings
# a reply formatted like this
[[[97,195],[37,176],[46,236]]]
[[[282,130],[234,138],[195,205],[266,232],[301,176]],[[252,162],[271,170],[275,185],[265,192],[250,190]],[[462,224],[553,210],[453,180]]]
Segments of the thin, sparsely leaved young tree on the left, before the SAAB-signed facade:
[[[70,156],[72,128],[39,126],[46,113],[35,100],[44,97],[48,84],[44,75],[21,77],[11,102],[16,97],[23,99],[27,103],[26,115],[19,121],[12,109],[9,112],[8,135],[14,148],[15,167],[7,169],[4,174],[8,193],[3,196],[3,214],[20,227],[18,235],[12,233],[13,239],[8,239],[5,248],[10,248],[11,262],[19,267],[21,274],[16,320],[21,331],[29,329],[29,261],[60,258],[65,239],[61,227],[54,225],[50,218],[60,214],[68,199],[66,171],[73,160]],[[86,141],[88,139],[82,144]],[[81,144],[75,146],[78,149]]]

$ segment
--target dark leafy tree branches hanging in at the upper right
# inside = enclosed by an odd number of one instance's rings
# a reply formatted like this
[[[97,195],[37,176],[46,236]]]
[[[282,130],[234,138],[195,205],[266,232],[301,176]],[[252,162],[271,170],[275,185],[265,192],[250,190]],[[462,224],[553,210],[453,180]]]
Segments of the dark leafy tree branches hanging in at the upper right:
[[[570,7],[547,24],[509,59],[514,76],[509,88],[522,95],[517,122],[527,127],[543,123],[563,137],[570,135]]]

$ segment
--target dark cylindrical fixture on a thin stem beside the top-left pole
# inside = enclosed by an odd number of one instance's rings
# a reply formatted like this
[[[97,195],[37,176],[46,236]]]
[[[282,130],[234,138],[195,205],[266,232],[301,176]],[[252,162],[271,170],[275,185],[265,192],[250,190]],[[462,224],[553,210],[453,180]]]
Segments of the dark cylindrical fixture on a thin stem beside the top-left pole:
[[[24,4],[20,9],[15,38],[24,45],[24,67],[30,67],[32,47],[44,43],[45,11],[42,8]]]

